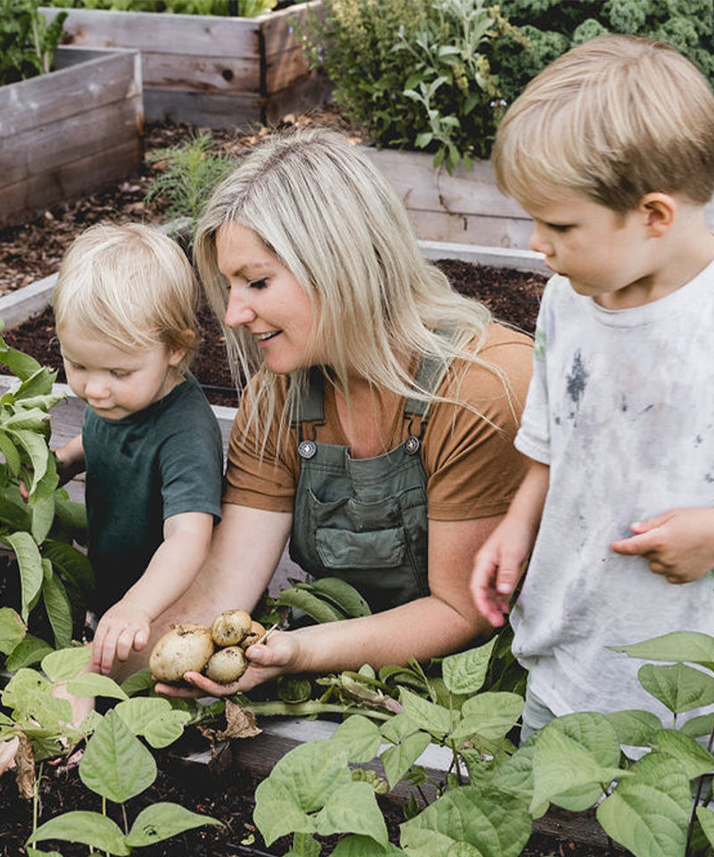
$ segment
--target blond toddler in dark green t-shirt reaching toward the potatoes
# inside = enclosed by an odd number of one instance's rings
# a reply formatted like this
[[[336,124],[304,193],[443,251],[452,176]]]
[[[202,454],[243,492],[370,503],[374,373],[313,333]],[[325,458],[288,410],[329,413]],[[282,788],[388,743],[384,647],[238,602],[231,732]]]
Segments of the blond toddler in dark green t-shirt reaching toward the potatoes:
[[[55,454],[62,481],[87,470],[96,671],[146,645],[220,520],[220,428],[187,369],[197,288],[179,245],[138,224],[87,229],[54,287],[67,380],[88,404],[81,435]]]

